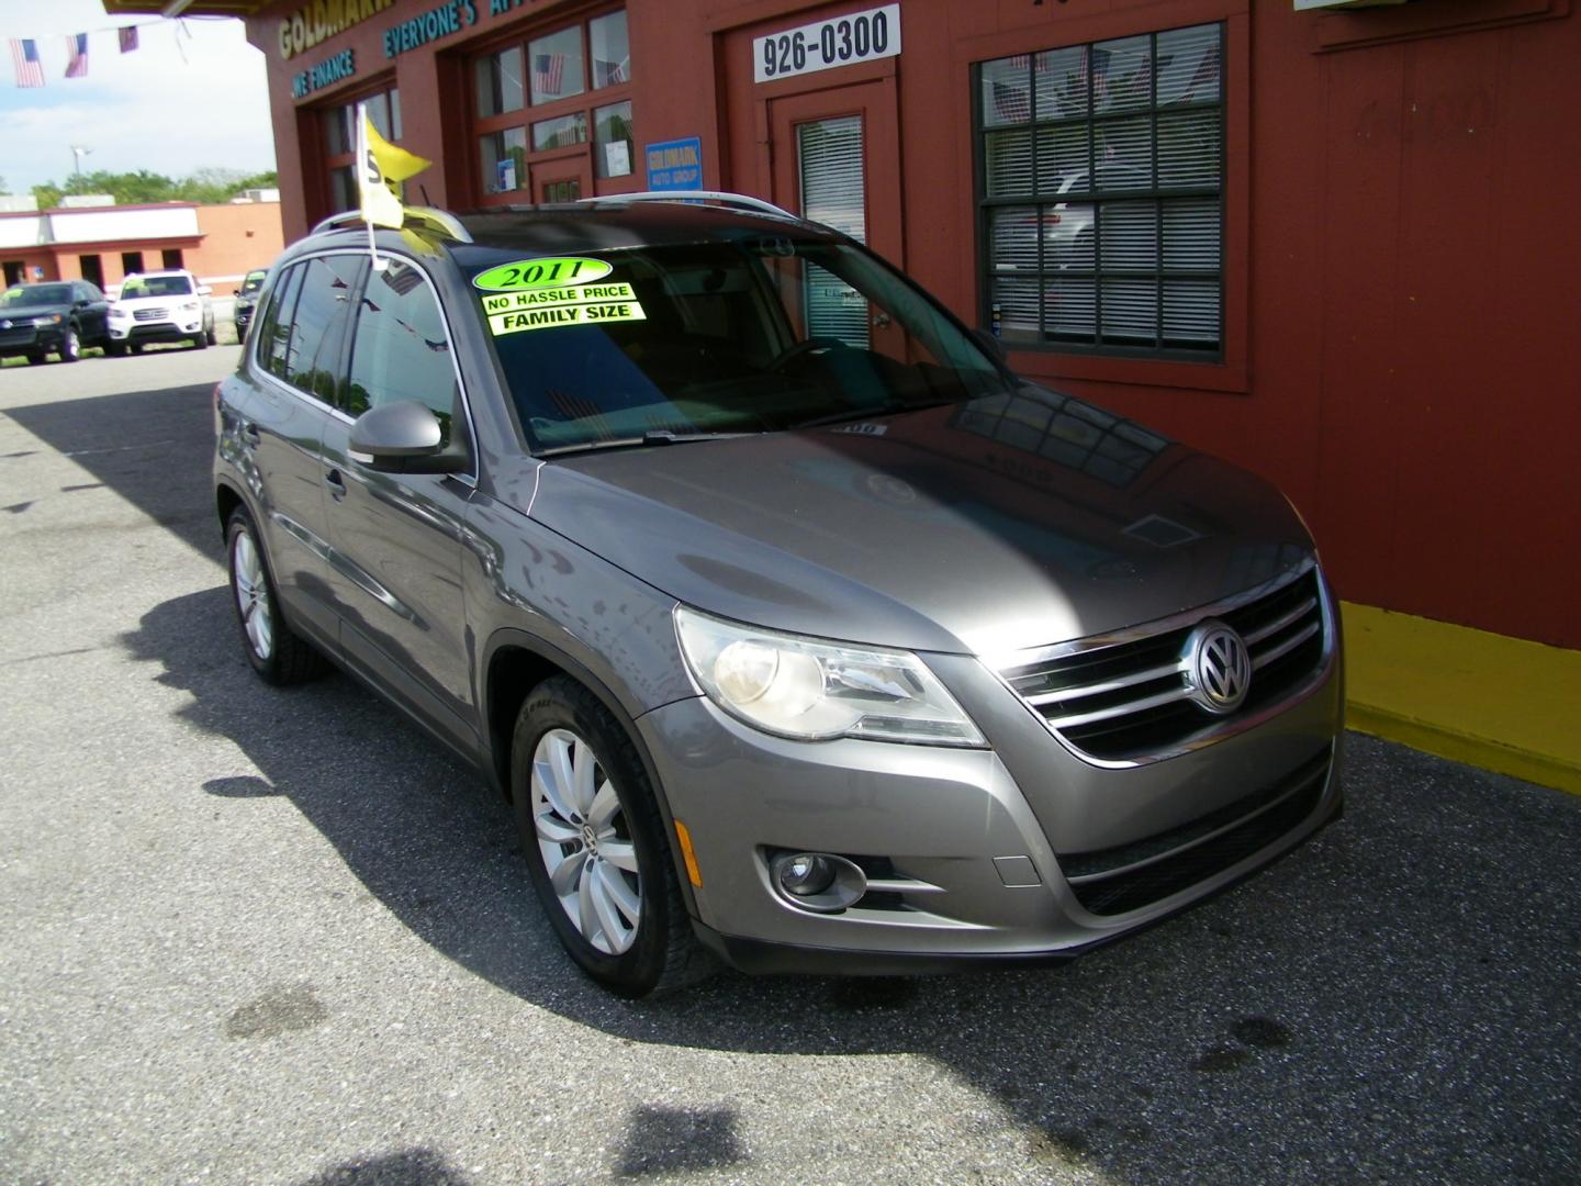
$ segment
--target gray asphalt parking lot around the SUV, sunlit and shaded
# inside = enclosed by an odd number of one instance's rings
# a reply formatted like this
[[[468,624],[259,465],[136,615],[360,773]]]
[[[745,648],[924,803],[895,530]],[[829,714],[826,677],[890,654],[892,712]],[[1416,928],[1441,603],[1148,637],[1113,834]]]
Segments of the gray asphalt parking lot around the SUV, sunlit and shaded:
[[[1360,735],[1339,824],[1067,968],[596,990],[479,778],[248,669],[236,357],[0,372],[0,1180],[1581,1178],[1581,799]]]

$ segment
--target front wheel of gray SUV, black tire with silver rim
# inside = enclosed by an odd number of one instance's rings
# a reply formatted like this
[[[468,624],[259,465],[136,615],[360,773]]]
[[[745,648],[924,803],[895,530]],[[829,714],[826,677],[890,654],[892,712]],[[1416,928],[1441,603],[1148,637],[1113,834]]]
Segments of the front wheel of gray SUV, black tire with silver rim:
[[[582,971],[637,998],[713,969],[686,917],[642,759],[571,677],[545,680],[522,705],[511,792],[533,889]]]

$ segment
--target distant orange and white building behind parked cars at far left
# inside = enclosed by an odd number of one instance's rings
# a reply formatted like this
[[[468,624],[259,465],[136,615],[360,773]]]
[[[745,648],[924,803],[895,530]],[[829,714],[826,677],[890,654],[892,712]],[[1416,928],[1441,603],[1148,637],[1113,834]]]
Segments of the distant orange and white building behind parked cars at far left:
[[[274,190],[225,206],[115,206],[109,196],[76,196],[55,210],[0,212],[6,285],[81,278],[115,293],[133,272],[185,267],[220,291],[283,247]]]

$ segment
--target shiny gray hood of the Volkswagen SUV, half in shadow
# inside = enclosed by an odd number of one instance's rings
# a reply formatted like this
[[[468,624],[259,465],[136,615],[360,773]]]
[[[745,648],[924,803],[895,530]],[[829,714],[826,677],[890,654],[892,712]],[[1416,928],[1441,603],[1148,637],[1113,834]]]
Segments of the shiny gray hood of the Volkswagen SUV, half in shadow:
[[[1262,479],[1031,386],[557,459],[531,517],[721,617],[977,655],[1162,618],[1311,555]]]

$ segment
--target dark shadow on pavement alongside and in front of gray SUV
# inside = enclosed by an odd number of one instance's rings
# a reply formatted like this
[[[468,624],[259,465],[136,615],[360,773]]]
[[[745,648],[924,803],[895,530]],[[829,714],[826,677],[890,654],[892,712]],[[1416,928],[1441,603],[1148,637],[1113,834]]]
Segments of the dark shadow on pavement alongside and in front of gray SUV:
[[[349,680],[262,686],[234,631],[217,587],[155,606],[125,637],[153,678],[191,696],[190,723],[258,769],[193,794],[285,795],[414,935],[577,1023],[757,1055],[922,1056],[993,1101],[972,1123],[1009,1126],[1034,1177],[1581,1175],[1581,800],[1352,735],[1344,821],[1069,966],[723,973],[626,1003],[560,950],[511,813],[479,776]],[[915,1074],[922,1097],[936,1072]],[[643,1112],[621,1161],[632,1173],[746,1156],[729,1112]]]

